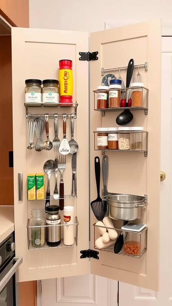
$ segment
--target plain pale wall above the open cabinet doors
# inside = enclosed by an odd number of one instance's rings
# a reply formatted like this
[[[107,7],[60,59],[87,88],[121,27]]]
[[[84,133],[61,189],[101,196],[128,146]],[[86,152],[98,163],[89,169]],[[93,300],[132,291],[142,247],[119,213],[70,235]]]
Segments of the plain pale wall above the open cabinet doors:
[[[171,0],[29,0],[30,28],[95,32],[106,21],[171,20]]]

